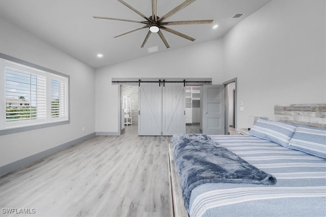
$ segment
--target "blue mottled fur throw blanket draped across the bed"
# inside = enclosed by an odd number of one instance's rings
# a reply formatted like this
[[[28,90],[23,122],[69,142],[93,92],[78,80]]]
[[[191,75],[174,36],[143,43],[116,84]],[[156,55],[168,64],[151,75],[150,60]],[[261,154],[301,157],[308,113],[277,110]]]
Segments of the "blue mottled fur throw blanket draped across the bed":
[[[192,190],[200,184],[276,183],[273,175],[249,164],[204,134],[176,134],[172,144],[186,209]]]

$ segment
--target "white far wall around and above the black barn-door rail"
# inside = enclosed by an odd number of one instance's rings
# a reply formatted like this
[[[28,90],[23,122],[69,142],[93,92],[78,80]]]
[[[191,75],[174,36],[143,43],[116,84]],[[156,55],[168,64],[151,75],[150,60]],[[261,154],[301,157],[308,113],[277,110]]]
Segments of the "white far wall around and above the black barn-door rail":
[[[115,77],[129,78],[212,78],[222,84],[222,40],[158,53],[96,70],[96,132],[118,132],[118,85]]]

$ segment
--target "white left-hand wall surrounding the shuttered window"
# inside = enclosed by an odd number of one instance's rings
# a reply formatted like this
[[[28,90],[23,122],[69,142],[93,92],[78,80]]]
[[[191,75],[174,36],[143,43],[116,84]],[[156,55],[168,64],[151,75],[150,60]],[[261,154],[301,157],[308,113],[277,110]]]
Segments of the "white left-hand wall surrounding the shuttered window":
[[[70,75],[70,124],[0,137],[0,166],[95,132],[95,71],[0,19],[0,52]],[[82,128],[85,130],[82,131]]]

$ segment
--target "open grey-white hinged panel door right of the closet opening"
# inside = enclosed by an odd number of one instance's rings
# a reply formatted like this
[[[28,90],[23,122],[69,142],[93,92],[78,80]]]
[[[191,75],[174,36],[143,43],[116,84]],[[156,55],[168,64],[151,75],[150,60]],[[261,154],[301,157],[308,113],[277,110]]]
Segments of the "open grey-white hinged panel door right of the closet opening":
[[[224,125],[224,85],[203,85],[203,133],[207,135],[222,135]]]

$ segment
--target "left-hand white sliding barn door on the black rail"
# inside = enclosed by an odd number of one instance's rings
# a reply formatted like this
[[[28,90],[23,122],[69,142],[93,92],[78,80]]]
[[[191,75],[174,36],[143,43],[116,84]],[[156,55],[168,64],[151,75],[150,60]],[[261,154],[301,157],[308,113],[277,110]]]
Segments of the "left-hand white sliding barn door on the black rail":
[[[161,135],[161,86],[141,83],[139,87],[138,135]]]

